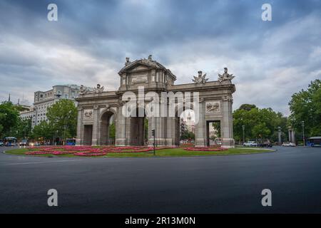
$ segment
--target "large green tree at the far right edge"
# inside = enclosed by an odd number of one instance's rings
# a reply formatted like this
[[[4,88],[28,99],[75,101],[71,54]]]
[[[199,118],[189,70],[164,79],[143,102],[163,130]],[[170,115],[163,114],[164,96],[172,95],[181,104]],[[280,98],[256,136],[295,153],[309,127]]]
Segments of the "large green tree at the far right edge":
[[[302,133],[305,122],[305,136],[321,135],[321,80],[312,81],[307,90],[294,93],[290,100],[290,125]]]

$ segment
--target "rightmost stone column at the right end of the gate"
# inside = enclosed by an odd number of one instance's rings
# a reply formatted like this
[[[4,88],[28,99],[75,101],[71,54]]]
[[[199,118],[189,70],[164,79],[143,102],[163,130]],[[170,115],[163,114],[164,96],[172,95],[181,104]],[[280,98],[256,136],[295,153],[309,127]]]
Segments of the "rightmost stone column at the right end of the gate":
[[[222,98],[222,112],[223,119],[220,123],[222,129],[222,147],[231,148],[234,147],[235,142],[233,139],[233,97],[232,95],[225,95]]]

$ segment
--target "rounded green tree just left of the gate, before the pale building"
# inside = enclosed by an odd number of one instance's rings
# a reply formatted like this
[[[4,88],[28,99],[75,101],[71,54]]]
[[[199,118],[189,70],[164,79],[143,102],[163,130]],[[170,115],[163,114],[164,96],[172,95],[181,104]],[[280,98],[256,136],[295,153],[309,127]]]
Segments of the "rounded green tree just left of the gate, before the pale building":
[[[76,137],[78,111],[72,100],[61,99],[47,110],[47,118],[56,136]]]

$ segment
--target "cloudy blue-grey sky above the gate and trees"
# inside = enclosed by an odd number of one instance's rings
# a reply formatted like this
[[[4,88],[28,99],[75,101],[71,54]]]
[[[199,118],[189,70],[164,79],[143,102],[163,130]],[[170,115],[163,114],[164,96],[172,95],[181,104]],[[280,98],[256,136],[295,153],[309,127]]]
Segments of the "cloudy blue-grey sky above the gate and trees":
[[[58,21],[47,6],[58,6]],[[272,6],[263,21],[261,6]],[[227,66],[234,108],[289,114],[292,93],[321,78],[321,1],[0,0],[0,100],[32,103],[56,84],[118,88],[126,56],[162,63],[190,83]]]

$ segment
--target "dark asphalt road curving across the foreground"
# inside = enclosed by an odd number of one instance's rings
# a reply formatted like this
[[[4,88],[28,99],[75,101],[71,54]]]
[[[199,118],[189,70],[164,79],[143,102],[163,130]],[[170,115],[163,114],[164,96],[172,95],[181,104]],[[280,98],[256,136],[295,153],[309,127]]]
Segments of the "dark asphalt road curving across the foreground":
[[[321,148],[107,159],[0,150],[0,213],[321,212]],[[58,207],[48,206],[49,189],[58,191]],[[272,207],[262,206],[263,189],[272,191]]]

